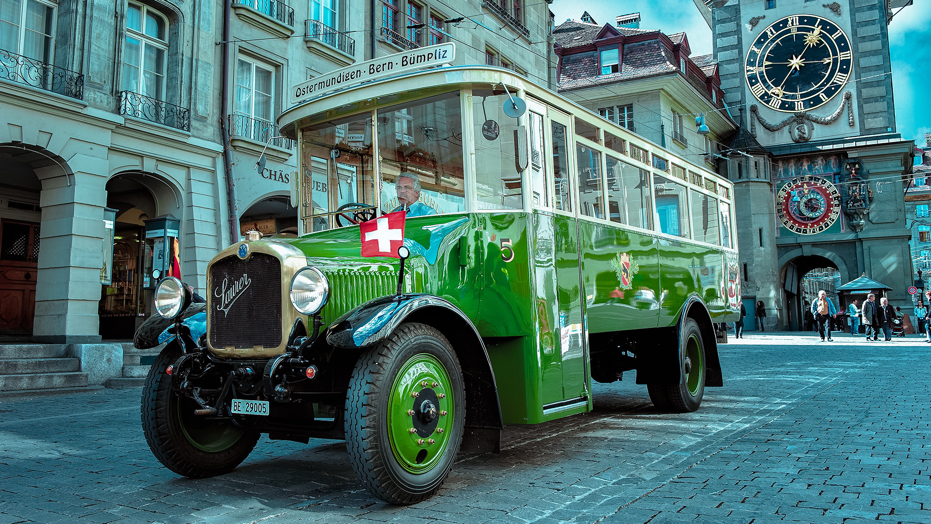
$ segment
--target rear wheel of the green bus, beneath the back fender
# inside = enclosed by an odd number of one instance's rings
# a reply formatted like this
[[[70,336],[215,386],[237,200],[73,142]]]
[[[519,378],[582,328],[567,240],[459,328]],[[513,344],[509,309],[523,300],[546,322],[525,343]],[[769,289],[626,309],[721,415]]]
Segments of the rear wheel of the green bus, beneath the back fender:
[[[701,406],[705,395],[705,341],[695,320],[682,321],[679,338],[679,365],[684,380],[679,384],[647,384],[650,400],[658,409],[684,413]]]

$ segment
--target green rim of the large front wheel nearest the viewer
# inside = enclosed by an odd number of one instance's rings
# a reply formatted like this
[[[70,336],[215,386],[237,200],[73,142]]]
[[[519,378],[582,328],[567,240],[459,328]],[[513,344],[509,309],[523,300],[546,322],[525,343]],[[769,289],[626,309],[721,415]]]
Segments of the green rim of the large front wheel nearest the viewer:
[[[429,435],[412,433],[417,415],[412,415],[410,410],[421,396],[432,397],[430,392],[437,395],[437,426]],[[391,385],[387,412],[391,451],[401,467],[410,473],[422,474],[437,465],[450,444],[454,409],[455,399],[446,366],[428,353],[408,359]]]

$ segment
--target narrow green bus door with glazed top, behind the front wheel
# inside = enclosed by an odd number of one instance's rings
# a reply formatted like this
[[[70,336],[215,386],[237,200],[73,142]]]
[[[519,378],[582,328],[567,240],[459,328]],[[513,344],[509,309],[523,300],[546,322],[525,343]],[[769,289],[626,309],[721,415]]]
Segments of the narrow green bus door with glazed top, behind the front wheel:
[[[578,221],[575,198],[578,177],[573,169],[573,134],[569,116],[549,109],[549,151],[552,178],[552,245],[555,273],[555,300],[552,325],[554,355],[551,365],[559,365],[559,387],[552,383],[556,373],[544,374],[544,416],[575,407],[586,393],[583,296],[579,276]],[[538,278],[542,275],[538,275]],[[574,402],[573,402],[574,401]]]

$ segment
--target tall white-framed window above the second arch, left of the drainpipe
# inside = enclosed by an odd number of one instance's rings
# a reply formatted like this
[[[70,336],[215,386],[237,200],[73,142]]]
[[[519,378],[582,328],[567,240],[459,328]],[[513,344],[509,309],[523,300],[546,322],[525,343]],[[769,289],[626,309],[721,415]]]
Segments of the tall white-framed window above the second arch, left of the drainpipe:
[[[123,48],[123,90],[165,99],[169,22],[155,9],[130,3]]]

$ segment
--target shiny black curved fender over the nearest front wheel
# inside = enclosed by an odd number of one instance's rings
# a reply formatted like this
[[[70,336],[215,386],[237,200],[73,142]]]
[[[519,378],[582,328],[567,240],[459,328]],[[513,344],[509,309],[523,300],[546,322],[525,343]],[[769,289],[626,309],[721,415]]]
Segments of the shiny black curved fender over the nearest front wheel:
[[[377,344],[406,322],[427,324],[450,340],[463,367],[468,401],[463,451],[497,451],[504,427],[492,362],[479,330],[466,313],[434,295],[382,296],[336,319],[325,339],[331,347],[354,351]]]

